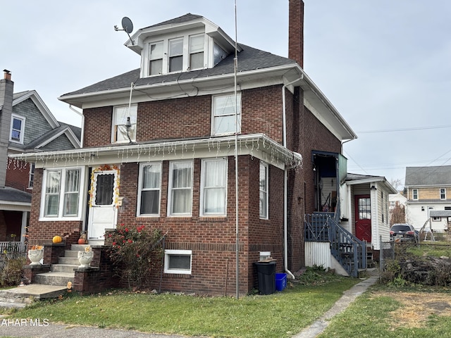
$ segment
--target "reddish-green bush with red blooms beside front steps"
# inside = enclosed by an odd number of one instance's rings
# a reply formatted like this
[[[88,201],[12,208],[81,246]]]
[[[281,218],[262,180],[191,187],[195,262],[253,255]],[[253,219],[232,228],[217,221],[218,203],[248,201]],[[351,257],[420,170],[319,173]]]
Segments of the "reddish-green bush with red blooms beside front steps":
[[[147,287],[152,270],[161,265],[161,231],[149,232],[144,225],[127,227],[121,224],[107,238],[111,244],[111,261],[121,283],[135,289]]]

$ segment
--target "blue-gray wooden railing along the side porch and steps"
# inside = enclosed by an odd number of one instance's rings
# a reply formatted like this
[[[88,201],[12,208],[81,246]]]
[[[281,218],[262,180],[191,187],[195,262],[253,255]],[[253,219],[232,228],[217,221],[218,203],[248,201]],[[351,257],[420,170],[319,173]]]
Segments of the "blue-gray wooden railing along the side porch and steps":
[[[333,213],[314,213],[304,217],[307,242],[329,242],[330,253],[352,277],[366,270],[366,242],[340,226]]]

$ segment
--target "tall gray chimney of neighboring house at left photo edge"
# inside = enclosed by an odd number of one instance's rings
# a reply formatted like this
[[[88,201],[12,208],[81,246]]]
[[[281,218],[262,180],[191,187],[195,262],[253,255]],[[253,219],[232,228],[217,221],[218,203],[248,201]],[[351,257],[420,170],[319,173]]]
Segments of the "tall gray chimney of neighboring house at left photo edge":
[[[4,79],[0,80],[0,188],[5,187],[6,165],[8,163],[9,132],[13,113],[13,89],[11,72],[4,70]]]

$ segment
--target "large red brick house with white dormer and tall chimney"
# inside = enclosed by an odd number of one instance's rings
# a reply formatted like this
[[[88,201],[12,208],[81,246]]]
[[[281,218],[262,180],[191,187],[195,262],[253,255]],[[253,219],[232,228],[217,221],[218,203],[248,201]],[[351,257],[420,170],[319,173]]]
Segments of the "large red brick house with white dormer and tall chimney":
[[[157,227],[166,290],[230,293],[236,281],[246,294],[261,251],[278,272],[302,268],[304,215],[337,207],[318,173],[337,196],[336,159],[356,135],[302,68],[303,1],[289,11],[289,58],[188,13],[131,36],[140,68],[63,94],[83,110],[82,149],[16,156],[36,162],[30,239],[86,230],[102,245],[121,223]]]

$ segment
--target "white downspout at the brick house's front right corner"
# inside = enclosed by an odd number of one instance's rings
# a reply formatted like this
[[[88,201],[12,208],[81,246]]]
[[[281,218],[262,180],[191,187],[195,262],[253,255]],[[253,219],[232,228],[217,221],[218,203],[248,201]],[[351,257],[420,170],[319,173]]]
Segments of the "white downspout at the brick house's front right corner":
[[[299,82],[304,78],[304,74],[292,81],[284,84],[282,87],[282,110],[283,110],[283,146],[287,147],[287,118],[286,118],[286,103],[285,103],[285,88],[294,84],[295,82]],[[303,103],[302,103],[303,104]],[[288,174],[287,167],[283,170],[283,268],[288,275],[290,275],[292,280],[295,280],[295,275],[292,274],[290,270],[288,270]]]

